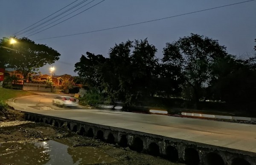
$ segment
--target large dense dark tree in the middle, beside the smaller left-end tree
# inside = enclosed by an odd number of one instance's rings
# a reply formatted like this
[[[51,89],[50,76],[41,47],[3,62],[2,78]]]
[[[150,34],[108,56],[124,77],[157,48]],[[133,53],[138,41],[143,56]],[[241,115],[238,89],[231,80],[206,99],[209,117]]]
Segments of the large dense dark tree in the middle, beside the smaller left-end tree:
[[[157,76],[157,49],[148,40],[128,40],[110,49],[102,67],[102,86],[111,98],[118,98],[125,107],[140,96],[152,94],[151,83]]]

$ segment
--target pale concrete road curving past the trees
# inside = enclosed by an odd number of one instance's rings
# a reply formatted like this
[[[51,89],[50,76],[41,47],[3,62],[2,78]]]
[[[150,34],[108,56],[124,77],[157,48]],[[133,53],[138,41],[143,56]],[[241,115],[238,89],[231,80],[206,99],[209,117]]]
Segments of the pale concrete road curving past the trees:
[[[256,125],[205,119],[136,114],[118,111],[60,108],[51,104],[54,94],[17,98],[17,110],[125,128],[166,137],[201,142],[256,153]],[[46,106],[50,108],[35,108]]]

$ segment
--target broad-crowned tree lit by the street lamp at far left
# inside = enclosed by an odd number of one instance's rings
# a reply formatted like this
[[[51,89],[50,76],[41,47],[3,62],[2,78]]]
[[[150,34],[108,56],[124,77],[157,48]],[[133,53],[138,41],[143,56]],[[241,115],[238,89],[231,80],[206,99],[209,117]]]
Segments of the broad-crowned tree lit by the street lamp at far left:
[[[61,55],[47,45],[36,44],[26,37],[15,38],[15,40],[17,43],[10,46],[9,38],[1,39],[1,54],[6,56],[5,63],[7,67],[21,71],[24,78],[28,78],[32,71],[38,71],[38,68],[54,63]]]

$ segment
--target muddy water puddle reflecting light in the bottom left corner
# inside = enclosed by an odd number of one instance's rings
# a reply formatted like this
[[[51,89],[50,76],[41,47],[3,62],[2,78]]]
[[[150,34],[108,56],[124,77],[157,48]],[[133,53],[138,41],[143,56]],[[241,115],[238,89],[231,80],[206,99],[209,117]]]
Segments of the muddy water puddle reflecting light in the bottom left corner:
[[[44,142],[0,143],[0,164],[86,165],[117,162],[100,149],[79,146],[58,139]]]

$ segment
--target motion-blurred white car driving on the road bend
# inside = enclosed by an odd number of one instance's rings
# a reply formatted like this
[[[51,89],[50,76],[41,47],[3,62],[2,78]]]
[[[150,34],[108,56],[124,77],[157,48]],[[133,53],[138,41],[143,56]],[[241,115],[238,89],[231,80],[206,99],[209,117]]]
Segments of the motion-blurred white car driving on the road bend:
[[[75,98],[70,96],[57,96],[52,100],[52,105],[60,105],[62,107],[72,107],[72,106],[78,106],[78,104],[74,103],[76,102]]]

